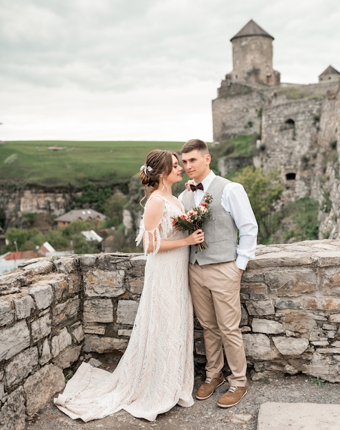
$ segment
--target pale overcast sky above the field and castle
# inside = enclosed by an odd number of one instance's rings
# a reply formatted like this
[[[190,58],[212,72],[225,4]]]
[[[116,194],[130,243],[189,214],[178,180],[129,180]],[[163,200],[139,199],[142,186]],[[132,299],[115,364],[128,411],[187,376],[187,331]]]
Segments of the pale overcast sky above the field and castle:
[[[340,71],[339,0],[0,0],[0,140],[212,141],[253,19],[281,82]]]

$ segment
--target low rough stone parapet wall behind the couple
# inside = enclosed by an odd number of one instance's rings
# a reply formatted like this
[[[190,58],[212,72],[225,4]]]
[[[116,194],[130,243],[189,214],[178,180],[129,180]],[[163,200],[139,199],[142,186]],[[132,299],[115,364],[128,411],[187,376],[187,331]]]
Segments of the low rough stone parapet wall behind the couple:
[[[284,372],[340,382],[339,240],[260,245],[242,276],[252,378]],[[39,258],[0,275],[0,429],[21,430],[65,386],[82,354],[124,352],[144,256]],[[204,359],[195,324],[194,354]]]

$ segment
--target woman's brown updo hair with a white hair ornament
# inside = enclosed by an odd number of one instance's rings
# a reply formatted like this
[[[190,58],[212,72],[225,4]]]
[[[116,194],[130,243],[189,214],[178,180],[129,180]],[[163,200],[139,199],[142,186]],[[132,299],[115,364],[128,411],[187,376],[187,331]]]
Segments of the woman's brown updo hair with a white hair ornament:
[[[174,151],[154,149],[148,153],[145,163],[141,166],[139,172],[141,183],[144,185],[144,197],[139,203],[152,191],[157,190],[159,182],[162,179],[161,175],[167,176],[171,173],[172,155],[179,161],[179,156]]]

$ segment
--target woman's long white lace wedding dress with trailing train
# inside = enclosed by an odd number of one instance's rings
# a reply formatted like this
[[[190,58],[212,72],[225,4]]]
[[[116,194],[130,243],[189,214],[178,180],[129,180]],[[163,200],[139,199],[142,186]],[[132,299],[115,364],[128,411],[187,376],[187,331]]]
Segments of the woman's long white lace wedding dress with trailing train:
[[[165,201],[157,238],[177,239],[171,216],[184,210]],[[147,203],[146,203],[147,204]],[[147,233],[143,220],[137,241]],[[158,241],[159,244],[159,241]],[[73,419],[87,422],[121,409],[153,421],[174,405],[194,404],[193,310],[188,288],[188,247],[148,254],[144,289],[126,352],[113,373],[82,363],[54,399]]]

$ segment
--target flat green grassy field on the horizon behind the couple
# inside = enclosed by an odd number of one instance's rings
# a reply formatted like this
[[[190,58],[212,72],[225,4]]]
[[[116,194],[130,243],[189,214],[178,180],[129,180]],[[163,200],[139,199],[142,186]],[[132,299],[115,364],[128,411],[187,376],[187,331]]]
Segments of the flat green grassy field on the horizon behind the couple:
[[[0,185],[81,188],[127,183],[152,149],[179,150],[183,142],[21,141],[0,144]],[[56,146],[62,150],[50,150]]]

